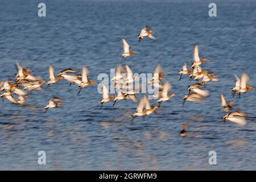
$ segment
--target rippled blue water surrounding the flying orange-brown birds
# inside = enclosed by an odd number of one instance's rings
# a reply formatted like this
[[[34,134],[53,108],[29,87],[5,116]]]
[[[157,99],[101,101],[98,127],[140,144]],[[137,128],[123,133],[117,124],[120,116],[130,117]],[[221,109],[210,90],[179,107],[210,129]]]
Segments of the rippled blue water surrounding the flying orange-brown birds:
[[[37,15],[41,1],[0,1],[0,80],[13,79],[15,61],[48,80],[55,72],[81,70],[91,80],[127,63],[134,73],[151,73],[161,64],[172,92],[184,96],[191,84],[177,72],[192,60],[194,43],[210,62],[203,69],[220,78],[210,82],[203,103],[178,97],[162,104],[157,114],[135,118],[137,104],[120,101],[100,109],[97,85],[77,96],[76,85],[61,80],[50,89],[34,91],[26,103],[0,103],[0,169],[256,169],[255,90],[241,98],[231,96],[236,73],[247,72],[255,85],[256,2],[217,1],[217,17],[208,16],[209,1],[44,1],[46,17]],[[157,40],[138,42],[147,24]],[[123,61],[121,37],[140,52]],[[100,81],[98,81],[100,82]],[[193,82],[192,82],[193,83]],[[222,123],[220,92],[249,116],[247,125]],[[42,109],[53,96],[64,105]],[[138,94],[141,97],[141,94]],[[156,104],[154,101],[152,104]],[[183,123],[187,137],[179,137]],[[208,152],[217,152],[217,165],[208,164]],[[47,164],[39,165],[38,151]]]

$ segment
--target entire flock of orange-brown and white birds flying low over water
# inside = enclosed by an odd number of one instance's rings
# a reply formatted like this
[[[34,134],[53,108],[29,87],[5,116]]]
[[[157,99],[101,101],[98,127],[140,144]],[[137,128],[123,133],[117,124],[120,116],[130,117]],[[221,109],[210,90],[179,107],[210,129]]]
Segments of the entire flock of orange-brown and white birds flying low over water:
[[[148,29],[149,28],[145,26],[141,30],[140,34],[138,35],[139,41],[143,40],[143,38],[146,37],[155,40],[155,37],[152,35],[154,31]],[[138,53],[134,50],[130,51],[130,46],[124,38],[122,38],[121,40],[123,44],[123,53],[121,55],[122,59],[125,59],[125,57],[131,56],[134,53]],[[190,81],[192,79],[198,81],[196,84],[188,86],[189,93],[183,97],[183,105],[185,104],[185,101],[203,101],[206,97],[209,96],[209,91],[203,89],[205,88],[206,83],[209,81],[218,81],[218,77],[214,73],[209,71],[203,71],[201,65],[205,63],[205,61],[209,60],[206,58],[204,58],[203,60],[200,59],[198,45],[195,44],[193,47],[193,61],[191,64],[191,69],[188,69],[187,64],[184,64],[182,70],[177,73],[178,75],[180,75],[180,79],[183,75],[188,75]],[[60,81],[61,79],[68,81],[70,84],[77,85],[79,88],[79,92],[77,94],[81,93],[82,88],[85,88],[86,86],[92,84],[96,84],[95,81],[89,80],[89,71],[84,65],[82,66],[82,71],[80,75],[75,75],[76,71],[72,68],[68,68],[61,71],[57,75],[57,77],[55,76],[52,65],[49,65],[49,81],[44,81],[40,77],[33,76],[30,69],[20,66],[17,62],[15,65],[17,71],[17,73],[15,74],[15,79],[0,82],[0,91],[2,92],[0,97],[5,97],[7,100],[16,105],[24,104],[24,102],[28,98],[28,93],[26,92],[26,90],[42,90],[43,84],[56,84],[56,82]],[[146,94],[143,94],[141,100],[138,103],[135,113],[131,114],[133,119],[135,117],[150,115],[154,113],[155,110],[160,107],[160,104],[162,102],[168,101],[172,97],[177,96],[177,94],[175,93],[170,94],[171,84],[168,81],[163,82],[162,78],[164,75],[166,75],[166,73],[162,72],[162,68],[160,67],[160,65],[157,65],[155,68],[154,76],[152,76],[151,80],[147,82],[147,84],[151,84],[152,86],[154,86],[154,88],[158,88],[158,92],[150,97],[154,100],[158,99],[157,102],[159,103],[159,105],[151,106],[148,97],[146,96]],[[252,86],[247,85],[247,82],[249,81],[249,76],[247,75],[247,73],[242,73],[241,78],[237,77],[236,75],[235,77],[236,84],[234,88],[232,88],[233,97],[236,96],[236,94],[241,97],[241,93],[245,93],[248,92],[250,89],[254,89]],[[113,106],[119,100],[132,100],[134,102],[137,102],[137,97],[135,94],[137,94],[141,89],[134,88],[133,84],[137,78],[138,77],[135,77],[133,75],[133,72],[127,64],[125,64],[125,68],[123,68],[123,66],[119,64],[115,71],[115,75],[112,78],[112,81],[115,85],[115,92],[117,93],[117,95],[109,96],[108,88],[106,87],[106,85],[104,85],[103,82],[101,82],[101,107],[104,103],[110,102],[112,100]],[[227,104],[222,93],[220,93],[220,98],[222,111],[229,111],[233,109],[233,102],[229,102],[229,104]],[[53,107],[59,107],[61,105],[63,105],[61,99],[59,97],[53,97],[44,107],[45,113],[48,109]],[[246,114],[243,113],[241,110],[235,110],[231,111],[228,114],[225,114],[223,117],[223,121],[231,121],[240,125],[246,125],[245,117]],[[184,124],[183,130],[180,131],[181,137],[184,137],[186,135],[186,130],[187,124]]]

